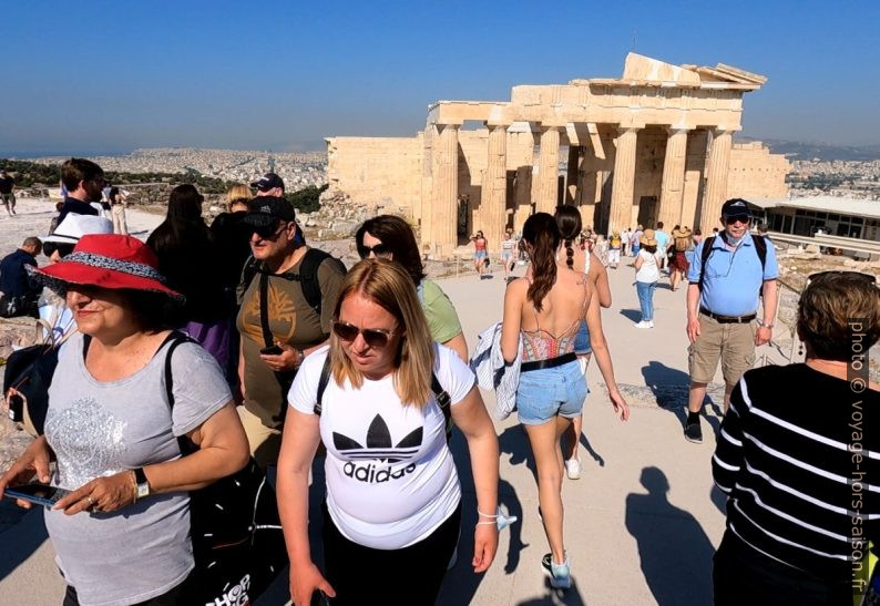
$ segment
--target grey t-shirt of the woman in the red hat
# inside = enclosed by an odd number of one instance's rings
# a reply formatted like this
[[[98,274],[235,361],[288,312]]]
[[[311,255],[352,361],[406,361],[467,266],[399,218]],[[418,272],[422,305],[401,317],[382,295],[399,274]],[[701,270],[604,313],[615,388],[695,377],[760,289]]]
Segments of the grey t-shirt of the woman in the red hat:
[[[144,368],[111,382],[92,378],[82,347],[82,335],[75,335],[61,348],[49,389],[45,436],[58,458],[54,483],[62,487],[177,459],[176,436],[232,400],[217,362],[195,343],[172,356],[173,418],[165,398],[167,345]],[[145,602],[193,568],[186,493],[149,496],[106,514],[47,510],[45,526],[83,606]]]

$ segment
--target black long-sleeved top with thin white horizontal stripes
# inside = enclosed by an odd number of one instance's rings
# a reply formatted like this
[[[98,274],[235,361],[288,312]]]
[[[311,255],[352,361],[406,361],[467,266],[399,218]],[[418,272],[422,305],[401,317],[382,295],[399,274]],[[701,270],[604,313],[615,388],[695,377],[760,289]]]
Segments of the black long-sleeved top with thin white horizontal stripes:
[[[785,564],[849,578],[852,554],[880,543],[880,425],[867,427],[879,411],[880,393],[806,364],[746,372],[712,460],[729,531]]]

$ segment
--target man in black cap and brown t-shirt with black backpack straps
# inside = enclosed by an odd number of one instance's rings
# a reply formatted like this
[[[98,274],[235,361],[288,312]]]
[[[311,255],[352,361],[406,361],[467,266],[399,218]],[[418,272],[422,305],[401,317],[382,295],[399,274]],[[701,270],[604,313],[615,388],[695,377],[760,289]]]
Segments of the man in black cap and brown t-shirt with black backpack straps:
[[[244,398],[238,413],[250,452],[265,469],[278,459],[296,370],[330,336],[345,266],[306,246],[294,207],[283,197],[255,197],[242,223],[254,257],[243,273],[237,319]]]

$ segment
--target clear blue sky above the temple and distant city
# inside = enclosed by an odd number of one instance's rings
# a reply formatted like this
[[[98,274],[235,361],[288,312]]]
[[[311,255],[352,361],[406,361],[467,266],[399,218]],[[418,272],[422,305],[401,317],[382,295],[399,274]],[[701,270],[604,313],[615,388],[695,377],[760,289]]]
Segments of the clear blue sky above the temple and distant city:
[[[0,155],[321,150],[441,99],[618,78],[630,50],[765,74],[744,135],[880,144],[880,1],[13,1]]]

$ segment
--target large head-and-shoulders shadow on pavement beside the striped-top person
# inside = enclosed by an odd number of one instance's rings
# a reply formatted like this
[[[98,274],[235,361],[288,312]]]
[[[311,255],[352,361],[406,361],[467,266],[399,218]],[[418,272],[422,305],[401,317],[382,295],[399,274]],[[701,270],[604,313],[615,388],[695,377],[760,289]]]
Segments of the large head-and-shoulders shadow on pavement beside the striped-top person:
[[[669,503],[669,482],[657,468],[644,468],[647,494],[626,496],[626,530],[638,545],[642,573],[657,604],[712,604],[715,549],[703,527]]]

